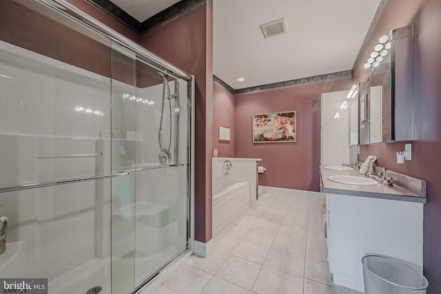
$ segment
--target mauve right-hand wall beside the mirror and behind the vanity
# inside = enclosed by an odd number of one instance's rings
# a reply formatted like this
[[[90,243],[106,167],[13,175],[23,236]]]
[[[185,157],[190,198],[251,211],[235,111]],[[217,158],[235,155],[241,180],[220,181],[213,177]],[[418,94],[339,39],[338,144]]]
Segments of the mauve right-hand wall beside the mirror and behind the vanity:
[[[391,10],[402,6],[390,1]],[[396,152],[404,142],[378,143],[360,147],[359,160],[375,154],[378,165],[427,180],[424,204],[424,275],[428,294],[441,293],[441,1],[427,0],[414,12],[415,58],[413,96],[415,101],[415,140],[412,160],[396,163]]]

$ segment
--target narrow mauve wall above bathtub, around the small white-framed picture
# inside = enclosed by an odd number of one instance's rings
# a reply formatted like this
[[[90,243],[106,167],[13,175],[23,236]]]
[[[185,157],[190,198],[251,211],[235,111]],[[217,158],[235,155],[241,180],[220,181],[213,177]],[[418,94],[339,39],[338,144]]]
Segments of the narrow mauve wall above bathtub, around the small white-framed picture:
[[[234,157],[234,94],[214,83],[213,86],[213,148],[218,149],[219,157]],[[231,128],[231,140],[219,141],[219,125]]]

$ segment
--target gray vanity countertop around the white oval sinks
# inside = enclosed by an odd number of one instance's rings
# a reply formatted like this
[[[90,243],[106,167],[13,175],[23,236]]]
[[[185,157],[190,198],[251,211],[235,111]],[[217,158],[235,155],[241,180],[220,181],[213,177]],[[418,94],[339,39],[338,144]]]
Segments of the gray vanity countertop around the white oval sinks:
[[[368,198],[426,203],[426,182],[424,180],[403,175],[405,178],[400,178],[400,180],[403,182],[396,182],[394,183],[393,187],[387,187],[387,185],[380,183],[377,185],[362,186],[340,184],[338,182],[328,180],[329,176],[336,175],[363,176],[360,175],[356,169],[340,171],[326,169],[320,165],[320,176],[323,192]],[[418,191],[419,193],[416,193],[417,191],[415,187],[418,189],[418,185],[421,189]],[[407,186],[413,188],[413,191],[409,191],[410,189],[404,189],[404,187]]]

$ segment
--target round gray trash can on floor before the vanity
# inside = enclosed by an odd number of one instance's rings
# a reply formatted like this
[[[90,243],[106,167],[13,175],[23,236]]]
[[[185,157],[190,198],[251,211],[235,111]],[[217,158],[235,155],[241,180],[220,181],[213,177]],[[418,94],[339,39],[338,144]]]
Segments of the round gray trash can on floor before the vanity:
[[[400,260],[382,255],[362,258],[366,294],[425,294],[429,282]]]

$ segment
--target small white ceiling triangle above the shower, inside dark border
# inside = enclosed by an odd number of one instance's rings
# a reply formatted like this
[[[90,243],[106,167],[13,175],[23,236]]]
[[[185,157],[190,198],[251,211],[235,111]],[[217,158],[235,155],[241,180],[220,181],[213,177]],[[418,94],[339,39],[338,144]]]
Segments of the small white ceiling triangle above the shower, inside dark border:
[[[169,8],[179,0],[110,0],[116,6],[130,14],[137,21],[143,22],[154,14]]]

